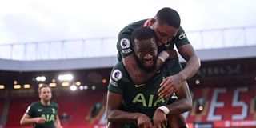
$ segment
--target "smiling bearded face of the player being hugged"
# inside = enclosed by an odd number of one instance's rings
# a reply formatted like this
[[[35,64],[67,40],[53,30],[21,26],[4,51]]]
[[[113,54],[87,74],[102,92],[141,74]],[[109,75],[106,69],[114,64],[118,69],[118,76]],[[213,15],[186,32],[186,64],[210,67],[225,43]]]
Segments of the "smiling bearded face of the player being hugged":
[[[145,70],[154,69],[155,60],[158,55],[158,46],[154,38],[146,40],[135,39],[134,53],[136,54],[138,64]]]

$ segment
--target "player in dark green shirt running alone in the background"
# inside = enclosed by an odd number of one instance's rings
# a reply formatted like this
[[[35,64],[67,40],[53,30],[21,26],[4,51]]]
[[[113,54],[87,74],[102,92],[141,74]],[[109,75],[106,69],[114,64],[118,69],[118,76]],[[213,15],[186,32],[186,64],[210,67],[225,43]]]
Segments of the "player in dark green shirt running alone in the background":
[[[38,89],[38,93],[41,100],[28,106],[20,124],[33,125],[34,128],[62,128],[58,118],[58,105],[50,102],[50,86],[44,84]]]

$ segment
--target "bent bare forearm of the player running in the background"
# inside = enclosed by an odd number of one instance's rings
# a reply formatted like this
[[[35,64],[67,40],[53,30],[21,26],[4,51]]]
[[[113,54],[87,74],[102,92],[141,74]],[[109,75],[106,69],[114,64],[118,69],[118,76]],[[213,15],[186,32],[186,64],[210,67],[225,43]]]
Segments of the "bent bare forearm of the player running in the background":
[[[44,118],[31,118],[29,114],[23,114],[22,119],[20,121],[21,125],[30,125],[34,123],[45,123],[46,120]]]

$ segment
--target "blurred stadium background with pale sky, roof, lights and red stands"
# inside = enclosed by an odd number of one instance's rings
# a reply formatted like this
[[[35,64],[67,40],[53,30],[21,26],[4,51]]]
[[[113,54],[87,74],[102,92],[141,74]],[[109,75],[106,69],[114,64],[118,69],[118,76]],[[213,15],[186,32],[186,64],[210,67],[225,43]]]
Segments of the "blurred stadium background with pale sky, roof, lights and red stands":
[[[202,66],[189,85],[190,127],[256,127],[253,0],[0,1],[0,127],[18,128],[49,84],[62,126],[105,127],[117,36],[131,22],[177,10]],[[182,66],[185,62],[179,57]]]

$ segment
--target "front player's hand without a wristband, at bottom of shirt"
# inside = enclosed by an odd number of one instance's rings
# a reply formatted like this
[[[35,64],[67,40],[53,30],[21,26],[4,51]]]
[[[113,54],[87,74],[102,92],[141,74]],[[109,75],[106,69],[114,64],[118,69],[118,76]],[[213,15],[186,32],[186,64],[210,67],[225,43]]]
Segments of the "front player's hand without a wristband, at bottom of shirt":
[[[152,128],[152,122],[150,118],[147,117],[145,114],[140,114],[137,119],[138,127],[139,128]]]

